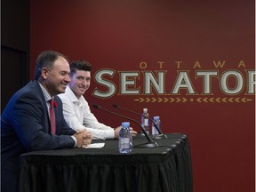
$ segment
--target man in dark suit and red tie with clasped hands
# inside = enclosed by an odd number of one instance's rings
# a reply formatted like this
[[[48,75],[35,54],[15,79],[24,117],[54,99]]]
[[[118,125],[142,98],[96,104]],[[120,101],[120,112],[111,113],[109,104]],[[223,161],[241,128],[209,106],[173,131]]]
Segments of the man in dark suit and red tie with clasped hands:
[[[65,92],[70,69],[59,52],[42,52],[36,60],[35,79],[26,84],[4,108],[1,117],[1,189],[18,188],[19,156],[34,150],[81,148],[92,142],[91,132],[74,131],[65,122],[58,96]],[[51,127],[54,100],[55,125]],[[51,132],[52,129],[52,132]]]

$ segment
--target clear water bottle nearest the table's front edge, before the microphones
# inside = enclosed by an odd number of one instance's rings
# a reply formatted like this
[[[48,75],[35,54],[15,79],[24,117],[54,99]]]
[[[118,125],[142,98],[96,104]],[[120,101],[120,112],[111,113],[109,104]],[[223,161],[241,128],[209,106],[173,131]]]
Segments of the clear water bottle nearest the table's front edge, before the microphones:
[[[132,133],[130,122],[123,122],[119,132],[119,153],[128,154],[132,151]]]

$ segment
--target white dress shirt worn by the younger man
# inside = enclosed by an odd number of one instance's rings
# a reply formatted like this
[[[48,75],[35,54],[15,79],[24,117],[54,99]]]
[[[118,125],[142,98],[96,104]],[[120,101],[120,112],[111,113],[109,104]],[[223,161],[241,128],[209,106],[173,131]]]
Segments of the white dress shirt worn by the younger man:
[[[77,99],[68,86],[66,92],[58,96],[63,103],[64,118],[72,129],[86,129],[92,132],[93,139],[106,140],[115,138],[114,129],[98,122],[84,96]]]

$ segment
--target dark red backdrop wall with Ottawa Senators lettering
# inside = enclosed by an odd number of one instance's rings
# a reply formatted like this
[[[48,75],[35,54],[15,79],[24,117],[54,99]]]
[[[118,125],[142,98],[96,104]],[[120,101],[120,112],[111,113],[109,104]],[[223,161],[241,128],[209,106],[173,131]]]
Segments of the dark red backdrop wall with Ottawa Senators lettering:
[[[254,191],[255,1],[31,1],[31,77],[55,50],[92,63],[93,103],[188,134],[194,191]],[[124,119],[92,108],[116,127]],[[136,124],[132,127],[137,131]]]

